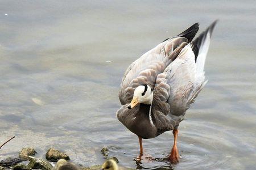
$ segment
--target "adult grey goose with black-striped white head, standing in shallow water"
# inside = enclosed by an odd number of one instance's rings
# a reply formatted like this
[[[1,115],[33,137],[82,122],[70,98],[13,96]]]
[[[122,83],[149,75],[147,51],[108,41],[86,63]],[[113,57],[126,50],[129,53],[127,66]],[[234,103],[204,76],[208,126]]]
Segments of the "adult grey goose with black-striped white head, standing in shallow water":
[[[177,135],[181,121],[207,80],[205,58],[217,20],[195,40],[199,23],[144,53],[125,71],[119,91],[118,120],[139,139],[155,138],[172,130],[174,145],[168,160],[179,163]]]

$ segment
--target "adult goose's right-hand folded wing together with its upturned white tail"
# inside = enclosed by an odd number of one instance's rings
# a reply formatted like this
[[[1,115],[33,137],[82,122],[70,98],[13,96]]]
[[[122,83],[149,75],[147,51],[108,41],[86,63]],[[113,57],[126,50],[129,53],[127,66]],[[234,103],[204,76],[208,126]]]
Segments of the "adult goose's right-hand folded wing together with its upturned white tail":
[[[184,46],[179,56],[159,74],[154,89],[154,107],[168,108],[171,116],[180,121],[189,105],[204,87],[204,63],[210,44],[210,36],[216,22],[200,34],[195,41]],[[168,104],[168,105],[167,105]],[[164,111],[163,111],[164,113]]]

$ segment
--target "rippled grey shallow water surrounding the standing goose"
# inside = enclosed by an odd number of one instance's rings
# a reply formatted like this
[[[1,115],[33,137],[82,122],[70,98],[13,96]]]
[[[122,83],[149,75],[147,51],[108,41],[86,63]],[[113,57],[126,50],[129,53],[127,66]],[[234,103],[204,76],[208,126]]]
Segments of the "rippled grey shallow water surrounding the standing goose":
[[[1,1],[0,9],[0,141],[15,135],[0,159],[24,146],[44,158],[55,147],[90,166],[104,162],[105,146],[131,168],[255,168],[255,1]],[[179,128],[180,163],[136,164],[137,136],[115,117],[124,71],[167,37],[215,19],[209,82]],[[172,143],[171,132],[143,141],[159,159]]]

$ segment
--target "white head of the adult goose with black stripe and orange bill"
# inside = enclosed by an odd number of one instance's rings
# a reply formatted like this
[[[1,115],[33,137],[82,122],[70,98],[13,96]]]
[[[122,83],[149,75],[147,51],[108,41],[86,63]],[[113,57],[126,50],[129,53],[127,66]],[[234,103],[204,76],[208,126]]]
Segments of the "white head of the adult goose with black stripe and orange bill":
[[[152,101],[153,101],[153,92],[151,87],[148,86],[147,84],[143,84],[135,88],[134,94],[133,94],[133,100],[131,100],[131,103],[127,108],[131,109],[139,103],[151,105]]]

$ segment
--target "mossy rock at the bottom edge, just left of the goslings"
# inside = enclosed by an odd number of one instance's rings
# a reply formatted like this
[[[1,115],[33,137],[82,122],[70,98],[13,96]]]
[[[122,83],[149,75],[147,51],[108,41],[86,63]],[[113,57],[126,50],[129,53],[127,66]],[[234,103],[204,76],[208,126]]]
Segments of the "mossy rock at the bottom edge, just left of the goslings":
[[[44,169],[44,170],[51,170],[53,168],[51,163],[47,162],[46,160],[38,159],[38,158],[31,159],[27,167],[31,169]]]

